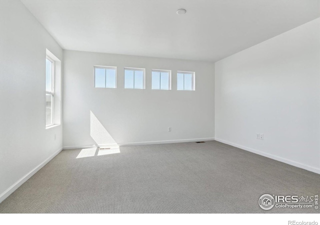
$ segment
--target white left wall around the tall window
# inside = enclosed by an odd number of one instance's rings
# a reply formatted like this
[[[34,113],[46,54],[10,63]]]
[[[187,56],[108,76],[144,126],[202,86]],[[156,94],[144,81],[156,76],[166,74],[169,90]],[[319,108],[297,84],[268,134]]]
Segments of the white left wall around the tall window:
[[[62,125],[45,129],[45,54],[63,51],[19,0],[0,6],[1,201],[62,147]]]

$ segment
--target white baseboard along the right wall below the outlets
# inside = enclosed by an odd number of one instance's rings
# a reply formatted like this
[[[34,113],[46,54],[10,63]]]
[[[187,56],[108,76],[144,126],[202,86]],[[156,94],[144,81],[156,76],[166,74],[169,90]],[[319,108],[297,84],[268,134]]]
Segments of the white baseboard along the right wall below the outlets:
[[[311,172],[315,172],[315,173],[320,174],[320,168],[317,168],[317,167],[314,167],[314,166],[306,165],[306,164],[303,164],[303,163],[300,163],[300,162],[297,162],[297,161],[293,161],[293,160],[290,160],[290,159],[287,159],[287,158],[283,158],[283,157],[280,157],[280,156],[277,156],[277,155],[274,155],[274,154],[270,154],[270,153],[266,153],[266,152],[263,152],[263,151],[259,151],[259,150],[250,148],[250,147],[242,146],[240,144],[232,143],[232,142],[229,142],[227,140],[222,140],[222,139],[219,139],[219,138],[214,138],[214,139],[216,141],[221,142],[221,143],[225,143],[225,144],[228,144],[228,145],[231,145],[231,146],[234,146],[234,147],[238,147],[238,148],[241,148],[243,150],[247,150],[247,151],[250,151],[250,152],[265,156],[265,157],[268,157],[268,158],[272,158],[272,159],[277,160],[277,161],[284,162],[284,163],[289,164],[289,165],[293,165],[293,166],[296,166],[296,167],[299,167],[299,168],[303,168],[303,169],[309,170]]]

